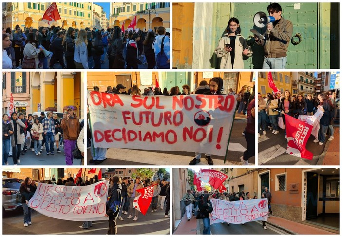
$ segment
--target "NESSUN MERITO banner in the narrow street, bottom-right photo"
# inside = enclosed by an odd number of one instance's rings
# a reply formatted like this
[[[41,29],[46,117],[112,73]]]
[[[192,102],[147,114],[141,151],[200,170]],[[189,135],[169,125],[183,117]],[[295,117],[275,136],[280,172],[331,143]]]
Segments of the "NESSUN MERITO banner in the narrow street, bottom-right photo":
[[[232,202],[220,199],[210,199],[210,201],[213,208],[210,225],[221,222],[242,224],[257,220],[267,221],[267,198]]]

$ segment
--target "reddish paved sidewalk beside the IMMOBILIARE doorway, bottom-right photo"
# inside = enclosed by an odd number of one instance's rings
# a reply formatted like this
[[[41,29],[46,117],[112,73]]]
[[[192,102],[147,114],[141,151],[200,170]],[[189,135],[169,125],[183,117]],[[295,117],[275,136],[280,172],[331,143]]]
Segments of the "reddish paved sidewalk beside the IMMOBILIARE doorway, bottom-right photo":
[[[322,230],[302,223],[298,223],[284,218],[271,216],[267,219],[266,226],[270,224],[290,234],[306,235],[335,235],[336,233]]]

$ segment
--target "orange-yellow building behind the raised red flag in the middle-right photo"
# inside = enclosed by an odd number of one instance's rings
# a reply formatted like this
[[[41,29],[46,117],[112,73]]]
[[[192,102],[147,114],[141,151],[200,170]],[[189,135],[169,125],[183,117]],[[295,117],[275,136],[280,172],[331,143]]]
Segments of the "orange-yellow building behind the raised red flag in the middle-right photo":
[[[266,97],[267,93],[274,93],[272,89],[268,86],[267,75],[268,72],[258,72],[258,92],[260,92],[263,97]],[[282,93],[285,90],[292,91],[291,72],[272,72],[272,78],[274,84]]]

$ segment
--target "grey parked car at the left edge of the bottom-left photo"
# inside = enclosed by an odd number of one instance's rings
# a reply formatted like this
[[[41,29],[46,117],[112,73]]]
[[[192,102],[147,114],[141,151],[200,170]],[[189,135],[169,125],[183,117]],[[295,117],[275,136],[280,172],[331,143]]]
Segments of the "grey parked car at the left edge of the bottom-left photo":
[[[2,211],[14,211],[17,208],[22,208],[21,203],[16,202],[16,195],[19,192],[20,185],[23,180],[18,178],[3,178],[2,179]]]

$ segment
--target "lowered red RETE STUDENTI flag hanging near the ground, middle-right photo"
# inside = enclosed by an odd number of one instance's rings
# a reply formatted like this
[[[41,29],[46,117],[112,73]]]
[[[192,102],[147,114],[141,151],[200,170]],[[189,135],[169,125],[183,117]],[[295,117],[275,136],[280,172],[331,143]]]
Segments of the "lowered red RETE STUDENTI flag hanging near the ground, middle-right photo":
[[[312,160],[313,154],[306,150],[306,142],[313,126],[285,114],[287,150],[290,155]]]

